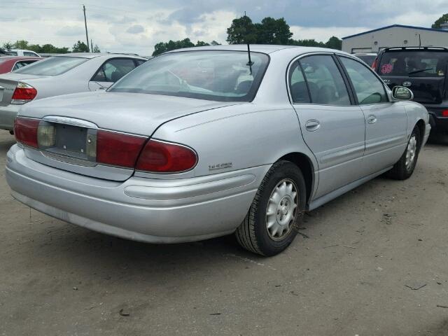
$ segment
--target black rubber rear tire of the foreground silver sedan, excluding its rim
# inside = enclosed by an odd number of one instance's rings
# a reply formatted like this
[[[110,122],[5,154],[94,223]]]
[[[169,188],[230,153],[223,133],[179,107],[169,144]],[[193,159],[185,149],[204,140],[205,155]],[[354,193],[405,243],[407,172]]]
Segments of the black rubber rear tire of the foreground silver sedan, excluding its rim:
[[[266,209],[272,190],[282,179],[291,179],[295,182],[299,194],[299,209],[297,209],[293,230],[290,230],[283,239],[275,241],[267,233]],[[305,182],[300,169],[289,161],[281,160],[274,163],[260,184],[246,218],[235,232],[238,243],[248,251],[265,256],[276,255],[285,250],[297,235],[297,229],[303,217],[306,195]]]

